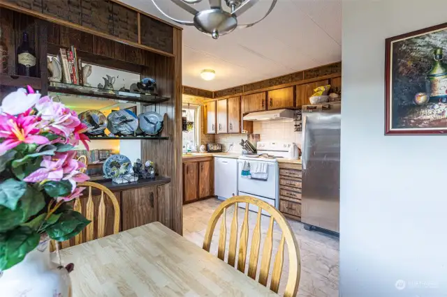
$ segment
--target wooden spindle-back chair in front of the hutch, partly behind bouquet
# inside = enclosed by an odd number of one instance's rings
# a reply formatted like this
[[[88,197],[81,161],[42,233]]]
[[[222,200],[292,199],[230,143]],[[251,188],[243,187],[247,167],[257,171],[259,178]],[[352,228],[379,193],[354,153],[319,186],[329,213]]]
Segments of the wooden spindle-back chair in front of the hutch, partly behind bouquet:
[[[113,234],[117,234],[119,232],[119,204],[117,197],[113,195],[112,191],[110,191],[105,186],[94,183],[91,181],[85,181],[83,183],[78,183],[78,187],[87,187],[88,191],[88,197],[81,197],[76,198],[75,202],[73,204],[73,210],[78,211],[79,213],[82,213],[82,215],[87,218],[87,220],[91,220],[91,223],[85,227],[83,231],[80,232],[80,234],[76,235],[74,238],[74,245],[78,245],[83,241],[83,238],[85,237],[85,241],[92,241],[97,238],[104,237],[105,235],[105,198],[104,196],[107,196],[108,199],[112,202],[115,214],[114,214],[114,222],[113,222]],[[99,205],[98,205],[98,217],[94,218],[94,202],[93,197],[91,195],[91,189],[97,189],[101,190],[101,198],[99,199]],[[82,207],[82,204],[85,204],[85,207]],[[84,211],[85,210],[85,211]],[[97,236],[94,238],[94,221],[97,220]],[[82,233],[86,232],[85,236],[82,236]],[[70,241],[62,241],[61,242],[61,248],[68,248],[71,246]]]

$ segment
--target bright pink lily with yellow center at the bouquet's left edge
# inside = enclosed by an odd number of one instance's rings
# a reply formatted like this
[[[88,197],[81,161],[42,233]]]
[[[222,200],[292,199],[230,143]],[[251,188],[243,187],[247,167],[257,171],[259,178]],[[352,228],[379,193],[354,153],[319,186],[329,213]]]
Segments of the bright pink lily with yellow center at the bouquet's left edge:
[[[38,118],[36,116],[19,114],[17,118],[10,114],[0,114],[0,138],[3,142],[0,144],[0,155],[6,151],[15,148],[19,144],[47,144],[50,142],[46,137],[38,135],[39,129],[36,128]]]

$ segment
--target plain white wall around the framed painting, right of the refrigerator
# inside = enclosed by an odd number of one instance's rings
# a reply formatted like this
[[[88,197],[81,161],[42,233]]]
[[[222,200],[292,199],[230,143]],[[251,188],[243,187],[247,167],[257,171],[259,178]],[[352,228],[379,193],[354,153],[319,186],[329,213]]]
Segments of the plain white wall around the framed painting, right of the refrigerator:
[[[385,39],[446,13],[446,0],[343,1],[340,296],[447,296],[447,136],[383,135]]]

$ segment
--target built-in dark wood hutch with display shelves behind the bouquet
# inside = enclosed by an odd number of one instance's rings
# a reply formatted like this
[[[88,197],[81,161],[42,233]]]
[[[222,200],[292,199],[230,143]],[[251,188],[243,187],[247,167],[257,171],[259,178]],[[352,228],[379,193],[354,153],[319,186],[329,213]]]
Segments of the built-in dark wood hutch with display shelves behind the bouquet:
[[[98,182],[119,199],[121,230],[158,220],[182,234],[182,29],[119,1],[108,0],[0,1],[0,26],[9,54],[8,73],[0,74],[0,98],[30,85],[43,95],[56,92],[139,102],[141,112],[165,115],[159,137],[127,138],[139,139],[141,159],[152,160],[158,176],[133,184]],[[16,73],[16,50],[23,31],[29,33],[36,50],[37,77]],[[60,47],[72,45],[85,63],[156,79],[158,96],[138,99],[116,93],[93,96],[50,85],[47,55],[55,55]],[[92,142],[110,138],[116,137]]]

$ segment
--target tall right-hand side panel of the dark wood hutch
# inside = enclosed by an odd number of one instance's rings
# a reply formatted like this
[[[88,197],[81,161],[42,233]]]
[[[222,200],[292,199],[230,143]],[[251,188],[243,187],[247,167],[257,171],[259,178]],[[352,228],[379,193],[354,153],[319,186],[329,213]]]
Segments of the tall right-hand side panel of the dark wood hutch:
[[[142,77],[154,77],[159,92],[170,96],[167,102],[143,108],[143,112],[167,114],[163,133],[170,138],[142,140],[142,159],[152,160],[159,174],[170,176],[171,182],[159,187],[164,195],[159,195],[158,220],[182,234],[182,31],[174,29],[174,36],[175,57],[156,59],[154,54],[147,53],[146,59],[153,63],[142,70]]]

